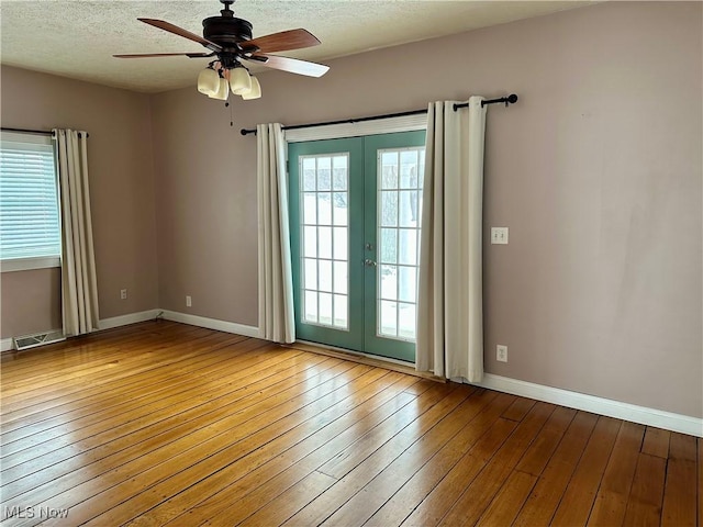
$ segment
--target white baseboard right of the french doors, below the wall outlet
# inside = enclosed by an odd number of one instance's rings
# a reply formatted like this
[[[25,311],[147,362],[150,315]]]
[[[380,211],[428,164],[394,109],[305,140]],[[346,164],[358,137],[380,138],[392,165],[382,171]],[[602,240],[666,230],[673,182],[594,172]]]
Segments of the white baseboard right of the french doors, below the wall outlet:
[[[486,373],[483,381],[472,383],[499,392],[512,393],[522,397],[535,399],[547,403],[606,415],[617,419],[631,421],[640,425],[656,426],[667,430],[703,437],[703,419],[688,415],[673,414],[656,408],[621,403],[610,399],[596,397],[584,393],[570,392],[558,388],[545,386],[507,377]]]

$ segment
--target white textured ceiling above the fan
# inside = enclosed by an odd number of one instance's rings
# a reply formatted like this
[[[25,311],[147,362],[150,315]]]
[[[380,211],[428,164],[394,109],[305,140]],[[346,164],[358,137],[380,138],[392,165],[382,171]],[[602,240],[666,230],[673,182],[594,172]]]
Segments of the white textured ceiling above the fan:
[[[588,4],[576,1],[238,0],[235,15],[254,36],[305,27],[322,45],[281,55],[331,58],[459,33]],[[203,52],[199,44],[138,22],[161,19],[202,34],[216,0],[2,0],[2,64],[158,92],[193,85],[204,59],[113,58],[115,53]],[[261,69],[259,68],[254,68]]]

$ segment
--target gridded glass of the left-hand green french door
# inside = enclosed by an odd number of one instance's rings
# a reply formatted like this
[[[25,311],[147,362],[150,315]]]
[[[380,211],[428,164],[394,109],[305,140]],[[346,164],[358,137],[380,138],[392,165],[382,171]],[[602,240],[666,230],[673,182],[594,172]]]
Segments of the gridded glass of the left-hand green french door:
[[[349,328],[349,155],[300,156],[302,319]]]

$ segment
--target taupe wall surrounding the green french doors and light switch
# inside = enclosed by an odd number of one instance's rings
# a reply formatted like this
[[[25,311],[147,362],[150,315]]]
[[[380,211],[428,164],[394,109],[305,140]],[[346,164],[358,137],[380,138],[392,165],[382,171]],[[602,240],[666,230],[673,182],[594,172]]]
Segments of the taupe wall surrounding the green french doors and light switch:
[[[487,371],[703,416],[702,5],[607,2],[154,96],[159,306],[257,325],[256,139],[238,128],[518,93],[488,115]],[[185,295],[193,298],[186,309]],[[494,360],[505,344],[510,361]]]

